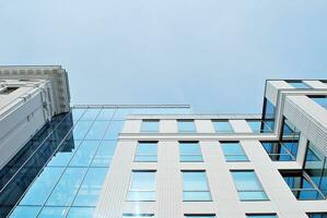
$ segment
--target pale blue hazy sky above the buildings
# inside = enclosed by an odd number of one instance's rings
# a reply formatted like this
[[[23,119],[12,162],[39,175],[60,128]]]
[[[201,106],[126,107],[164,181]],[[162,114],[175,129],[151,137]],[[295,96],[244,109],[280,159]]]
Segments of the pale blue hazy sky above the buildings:
[[[59,64],[71,104],[259,113],[267,78],[327,78],[326,0],[0,0],[0,64]]]

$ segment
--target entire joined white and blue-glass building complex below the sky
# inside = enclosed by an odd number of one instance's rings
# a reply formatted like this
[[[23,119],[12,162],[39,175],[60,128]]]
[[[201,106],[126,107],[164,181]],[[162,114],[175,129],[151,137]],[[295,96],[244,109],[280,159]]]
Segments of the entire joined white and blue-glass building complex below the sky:
[[[262,114],[196,114],[69,107],[60,66],[0,80],[0,217],[327,217],[327,81],[268,80]]]

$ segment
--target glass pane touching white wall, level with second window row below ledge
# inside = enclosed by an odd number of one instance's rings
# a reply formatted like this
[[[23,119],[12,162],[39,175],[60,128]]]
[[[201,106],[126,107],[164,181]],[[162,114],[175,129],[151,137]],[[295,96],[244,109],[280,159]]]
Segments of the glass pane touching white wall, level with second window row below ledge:
[[[73,202],[73,206],[96,206],[107,168],[90,168]]]

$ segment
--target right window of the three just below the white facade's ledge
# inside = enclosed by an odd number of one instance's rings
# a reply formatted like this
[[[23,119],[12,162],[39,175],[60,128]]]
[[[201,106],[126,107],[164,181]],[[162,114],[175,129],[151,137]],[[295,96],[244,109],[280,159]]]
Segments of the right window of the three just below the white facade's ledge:
[[[240,142],[220,142],[227,162],[248,161]]]

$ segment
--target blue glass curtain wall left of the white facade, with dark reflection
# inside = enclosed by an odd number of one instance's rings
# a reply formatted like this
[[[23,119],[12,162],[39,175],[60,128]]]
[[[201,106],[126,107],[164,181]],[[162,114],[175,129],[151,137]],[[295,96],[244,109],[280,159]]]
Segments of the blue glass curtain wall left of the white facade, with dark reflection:
[[[185,113],[189,107],[113,106],[55,117],[1,169],[0,217],[92,217],[126,116]],[[140,148],[139,157],[152,154]]]

